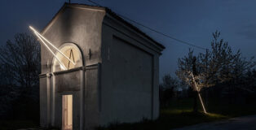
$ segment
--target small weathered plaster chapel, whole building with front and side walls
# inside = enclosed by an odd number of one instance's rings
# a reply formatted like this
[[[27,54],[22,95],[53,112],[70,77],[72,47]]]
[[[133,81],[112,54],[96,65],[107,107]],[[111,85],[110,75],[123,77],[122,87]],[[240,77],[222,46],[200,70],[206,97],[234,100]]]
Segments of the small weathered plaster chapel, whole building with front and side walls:
[[[63,95],[73,95],[73,129],[157,119],[163,45],[107,8],[68,3],[42,35],[59,48],[76,45],[82,57],[79,66],[58,71],[42,45],[42,127],[62,128]]]

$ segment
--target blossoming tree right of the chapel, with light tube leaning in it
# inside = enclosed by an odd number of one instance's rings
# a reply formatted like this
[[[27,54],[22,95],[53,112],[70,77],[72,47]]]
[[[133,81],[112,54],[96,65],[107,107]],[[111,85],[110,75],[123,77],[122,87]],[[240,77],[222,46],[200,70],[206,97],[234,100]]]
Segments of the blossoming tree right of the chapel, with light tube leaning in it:
[[[255,66],[254,58],[242,58],[240,50],[233,53],[227,41],[219,40],[219,36],[220,32],[213,33],[211,49],[205,50],[205,53],[195,56],[193,50],[189,49],[188,56],[178,59],[176,75],[194,90],[195,85],[200,92],[202,88],[229,82]]]

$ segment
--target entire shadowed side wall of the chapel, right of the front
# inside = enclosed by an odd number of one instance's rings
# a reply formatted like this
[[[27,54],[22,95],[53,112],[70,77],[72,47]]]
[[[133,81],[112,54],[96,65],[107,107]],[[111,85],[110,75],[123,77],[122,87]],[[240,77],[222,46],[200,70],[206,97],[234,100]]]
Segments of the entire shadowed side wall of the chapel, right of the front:
[[[102,35],[100,124],[157,119],[160,51],[108,15]]]

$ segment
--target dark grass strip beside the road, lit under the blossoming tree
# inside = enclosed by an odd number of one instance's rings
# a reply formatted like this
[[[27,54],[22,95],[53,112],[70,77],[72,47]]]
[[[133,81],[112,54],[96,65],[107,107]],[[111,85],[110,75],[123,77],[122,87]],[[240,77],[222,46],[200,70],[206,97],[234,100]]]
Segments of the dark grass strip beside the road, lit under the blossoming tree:
[[[256,106],[223,105],[218,102],[209,106],[209,111],[204,114],[202,110],[195,113],[192,111],[192,99],[173,100],[166,109],[161,109],[160,117],[157,120],[143,120],[135,124],[110,124],[107,128],[99,130],[170,130],[171,128],[181,128],[193,124],[228,119],[236,116],[256,114]],[[198,105],[201,105],[198,103]],[[201,108],[199,106],[199,108]]]

